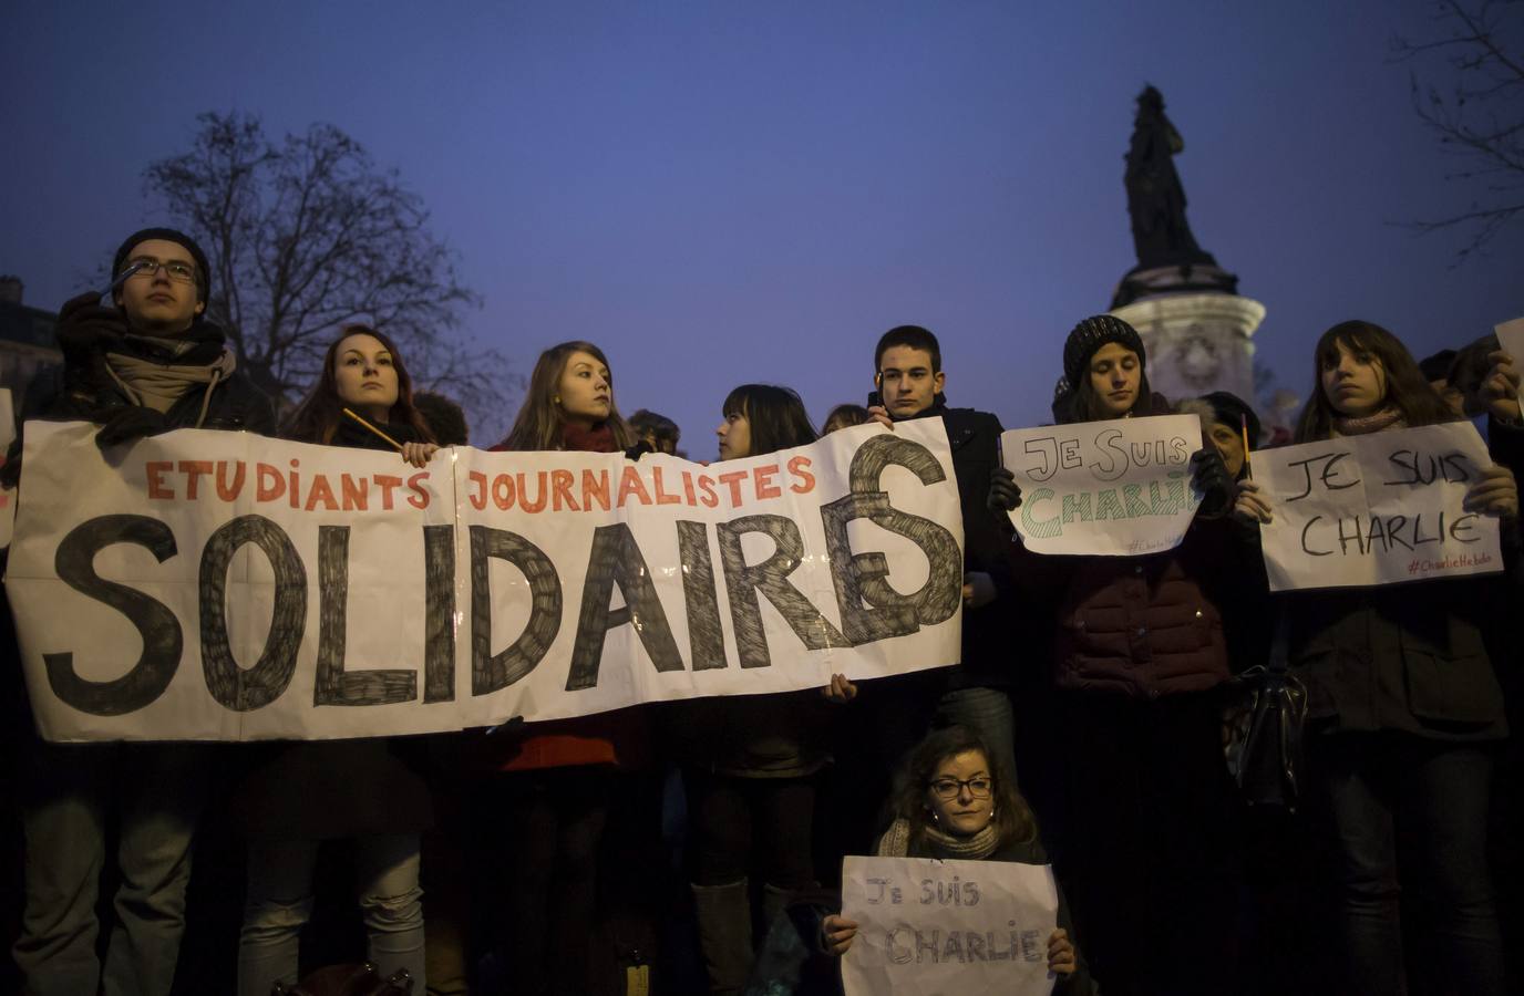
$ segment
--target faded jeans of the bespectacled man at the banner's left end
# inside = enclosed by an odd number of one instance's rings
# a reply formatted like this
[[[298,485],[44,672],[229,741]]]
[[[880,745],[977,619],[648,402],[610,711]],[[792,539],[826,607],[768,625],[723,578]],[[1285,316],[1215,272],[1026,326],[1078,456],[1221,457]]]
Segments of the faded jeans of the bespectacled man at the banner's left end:
[[[26,912],[12,947],[32,996],[168,996],[184,934],[190,844],[213,748],[114,743],[27,748],[21,819]],[[107,825],[120,816],[116,923],[96,956]]]

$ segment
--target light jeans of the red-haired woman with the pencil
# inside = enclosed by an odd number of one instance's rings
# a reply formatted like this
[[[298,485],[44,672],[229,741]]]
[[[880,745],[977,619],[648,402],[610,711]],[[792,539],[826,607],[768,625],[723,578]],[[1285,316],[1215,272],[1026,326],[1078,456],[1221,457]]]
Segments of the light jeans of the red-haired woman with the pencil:
[[[302,926],[312,915],[312,871],[320,841],[256,841],[248,848],[248,895],[238,941],[239,996],[270,996],[294,982]],[[366,923],[366,958],[381,975],[407,969],[413,991],[427,988],[424,906],[416,833],[355,838],[355,885]]]

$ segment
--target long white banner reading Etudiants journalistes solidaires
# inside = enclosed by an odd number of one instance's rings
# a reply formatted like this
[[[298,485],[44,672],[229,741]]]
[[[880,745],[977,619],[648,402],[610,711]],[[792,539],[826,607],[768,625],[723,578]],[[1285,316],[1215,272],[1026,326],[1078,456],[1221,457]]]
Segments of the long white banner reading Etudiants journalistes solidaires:
[[[50,740],[408,734],[954,664],[940,419],[715,466],[27,426],[6,586]]]

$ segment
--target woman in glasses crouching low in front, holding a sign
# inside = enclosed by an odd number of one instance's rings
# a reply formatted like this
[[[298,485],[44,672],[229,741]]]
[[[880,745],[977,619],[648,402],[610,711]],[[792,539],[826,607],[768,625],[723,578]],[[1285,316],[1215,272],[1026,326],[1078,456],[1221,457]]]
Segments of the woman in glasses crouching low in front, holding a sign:
[[[1032,807],[989,761],[989,748],[968,726],[945,726],[927,736],[907,757],[890,800],[893,822],[879,838],[879,857],[942,860],[1009,860],[1049,864]],[[846,955],[858,924],[840,914],[821,923],[820,938],[832,955]],[[1058,891],[1058,927],[1049,935],[1049,972],[1055,991],[1091,991],[1090,969],[1070,938],[1064,889]],[[1109,991],[1109,990],[1108,990]]]

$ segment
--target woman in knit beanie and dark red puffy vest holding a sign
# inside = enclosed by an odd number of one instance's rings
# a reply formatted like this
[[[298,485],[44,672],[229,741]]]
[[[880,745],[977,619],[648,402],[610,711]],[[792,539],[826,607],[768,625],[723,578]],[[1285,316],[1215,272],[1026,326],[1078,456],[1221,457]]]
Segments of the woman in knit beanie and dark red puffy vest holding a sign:
[[[1141,337],[1113,315],[1070,332],[1064,375],[1067,422],[1172,414],[1149,390]],[[1222,458],[1199,449],[1190,468],[1202,503],[1172,550],[1055,556],[1010,544],[1018,585],[1058,620],[1053,719],[1065,771],[1049,822],[1108,993],[1218,993],[1230,969],[1234,795],[1221,743],[1219,603],[1245,557],[1219,518],[1231,503]],[[1021,504],[1010,471],[995,469],[989,501],[1001,519]],[[1183,964],[1198,970],[1183,975]]]

